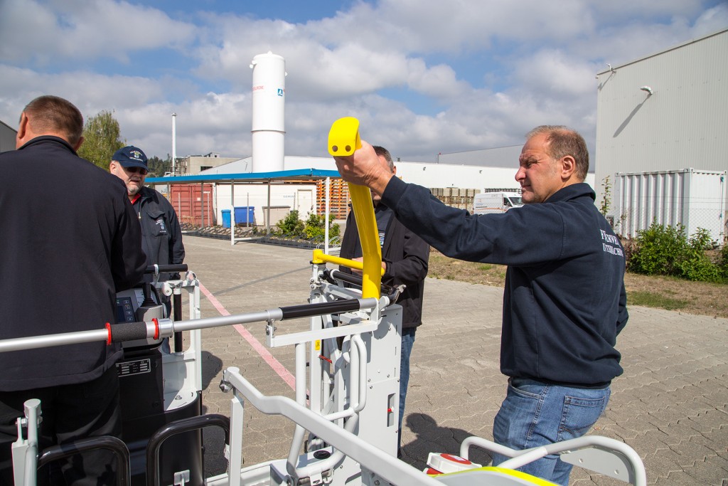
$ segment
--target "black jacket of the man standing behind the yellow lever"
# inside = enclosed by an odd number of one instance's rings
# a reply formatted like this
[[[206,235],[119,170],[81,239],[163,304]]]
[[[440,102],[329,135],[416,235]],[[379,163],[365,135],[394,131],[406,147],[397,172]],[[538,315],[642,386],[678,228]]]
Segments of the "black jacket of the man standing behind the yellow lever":
[[[387,271],[382,276],[381,283],[389,286],[404,283],[407,286],[397,299],[397,304],[402,306],[402,327],[417,327],[422,324],[422,295],[424,278],[427,277],[427,263],[430,260],[430,245],[394,217],[389,220],[386,231],[381,259],[387,263]],[[349,211],[339,256],[352,259],[355,254],[361,254],[361,243],[354,211]],[[341,267],[341,271],[351,272],[348,267]]]

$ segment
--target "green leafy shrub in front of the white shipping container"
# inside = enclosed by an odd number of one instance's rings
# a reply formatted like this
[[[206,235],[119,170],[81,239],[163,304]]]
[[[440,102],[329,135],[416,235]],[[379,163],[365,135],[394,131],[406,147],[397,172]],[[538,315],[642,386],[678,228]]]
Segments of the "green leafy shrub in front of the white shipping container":
[[[628,249],[628,270],[644,275],[669,275],[691,281],[721,281],[721,267],[705,254],[713,248],[708,230],[698,228],[687,238],[685,227],[653,223],[637,232]]]

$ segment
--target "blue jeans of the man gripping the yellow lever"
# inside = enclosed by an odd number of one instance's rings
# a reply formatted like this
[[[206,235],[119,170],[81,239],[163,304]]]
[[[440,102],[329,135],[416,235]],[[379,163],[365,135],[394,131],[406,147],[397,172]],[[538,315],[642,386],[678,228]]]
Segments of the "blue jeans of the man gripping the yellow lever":
[[[493,423],[493,439],[515,450],[530,449],[586,434],[604,413],[611,390],[547,385],[510,378],[508,393]],[[493,465],[507,460],[493,454]],[[526,464],[519,471],[559,485],[569,484],[571,464],[558,455]]]

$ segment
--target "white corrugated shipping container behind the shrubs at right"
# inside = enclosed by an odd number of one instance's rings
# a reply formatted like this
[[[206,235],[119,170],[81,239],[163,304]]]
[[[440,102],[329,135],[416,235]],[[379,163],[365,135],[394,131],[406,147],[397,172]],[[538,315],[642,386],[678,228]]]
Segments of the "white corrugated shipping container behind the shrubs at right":
[[[685,227],[688,236],[708,230],[716,243],[725,236],[725,179],[727,171],[616,173],[610,220],[614,230],[633,238],[653,222]]]

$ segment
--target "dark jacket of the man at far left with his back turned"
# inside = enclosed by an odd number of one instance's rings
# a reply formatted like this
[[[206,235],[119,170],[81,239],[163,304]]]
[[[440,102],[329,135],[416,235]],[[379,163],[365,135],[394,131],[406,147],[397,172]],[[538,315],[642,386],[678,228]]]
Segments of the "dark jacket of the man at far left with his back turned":
[[[122,181],[57,137],[0,154],[0,339],[103,329],[142,278],[141,232]],[[0,353],[0,391],[85,383],[122,356],[92,342]]]

